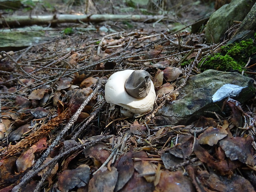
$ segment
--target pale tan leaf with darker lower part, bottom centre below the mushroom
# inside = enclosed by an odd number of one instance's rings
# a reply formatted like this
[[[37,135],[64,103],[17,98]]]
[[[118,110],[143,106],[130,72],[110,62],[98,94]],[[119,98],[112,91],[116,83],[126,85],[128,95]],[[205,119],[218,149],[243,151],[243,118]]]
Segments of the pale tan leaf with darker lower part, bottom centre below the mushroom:
[[[134,165],[135,170],[144,175],[143,177],[147,180],[147,182],[152,183],[155,179],[156,173],[156,165],[151,163],[150,161],[138,161]]]

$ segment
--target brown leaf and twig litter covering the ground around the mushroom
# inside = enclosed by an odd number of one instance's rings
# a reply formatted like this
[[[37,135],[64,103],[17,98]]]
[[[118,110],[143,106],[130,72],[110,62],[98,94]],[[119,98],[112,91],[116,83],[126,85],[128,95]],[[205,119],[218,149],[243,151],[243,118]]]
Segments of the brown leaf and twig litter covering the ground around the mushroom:
[[[177,81],[200,73],[199,60],[220,46],[180,36],[138,30],[85,41],[76,34],[5,53],[0,191],[254,191],[253,106],[229,99],[230,114],[189,126],[154,119],[178,96]],[[182,67],[185,57],[194,62]],[[151,113],[127,119],[104,101],[105,81],[123,69],[152,75],[158,99]]]

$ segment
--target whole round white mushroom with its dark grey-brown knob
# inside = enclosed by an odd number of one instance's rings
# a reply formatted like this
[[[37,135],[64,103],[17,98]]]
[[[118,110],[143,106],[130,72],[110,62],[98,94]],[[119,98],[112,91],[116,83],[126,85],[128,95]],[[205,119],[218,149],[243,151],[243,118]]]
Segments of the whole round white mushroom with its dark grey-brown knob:
[[[156,99],[154,84],[145,70],[124,70],[111,75],[105,85],[105,98],[134,114],[150,111]]]

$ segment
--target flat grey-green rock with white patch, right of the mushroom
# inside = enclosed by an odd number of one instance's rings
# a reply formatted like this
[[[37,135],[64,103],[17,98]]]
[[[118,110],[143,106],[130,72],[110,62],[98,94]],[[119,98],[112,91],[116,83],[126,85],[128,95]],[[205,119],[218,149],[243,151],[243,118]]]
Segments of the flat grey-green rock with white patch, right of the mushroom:
[[[256,91],[253,83],[253,79],[236,72],[207,70],[190,77],[177,100],[167,103],[156,115],[163,122],[186,125],[199,116],[209,116],[205,111],[220,113],[228,97],[240,103],[249,100]]]

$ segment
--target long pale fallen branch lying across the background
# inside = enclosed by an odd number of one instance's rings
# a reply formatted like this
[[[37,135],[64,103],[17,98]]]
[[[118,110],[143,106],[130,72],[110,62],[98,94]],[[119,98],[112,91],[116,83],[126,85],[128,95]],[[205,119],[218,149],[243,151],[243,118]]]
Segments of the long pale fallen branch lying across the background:
[[[42,24],[59,24],[59,23],[86,23],[102,21],[137,21],[137,22],[155,22],[164,19],[162,15],[116,15],[116,14],[94,14],[94,15],[71,15],[55,14],[44,16],[13,16],[1,17],[2,26],[27,26]]]

